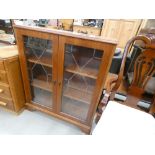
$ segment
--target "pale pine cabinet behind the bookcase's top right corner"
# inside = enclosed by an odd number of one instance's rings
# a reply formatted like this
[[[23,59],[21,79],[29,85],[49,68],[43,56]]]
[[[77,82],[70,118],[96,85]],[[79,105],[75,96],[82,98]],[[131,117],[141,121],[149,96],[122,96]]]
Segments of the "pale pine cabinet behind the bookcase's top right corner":
[[[118,40],[118,47],[124,48],[127,41],[136,35],[142,20],[109,19],[104,21],[101,36]]]

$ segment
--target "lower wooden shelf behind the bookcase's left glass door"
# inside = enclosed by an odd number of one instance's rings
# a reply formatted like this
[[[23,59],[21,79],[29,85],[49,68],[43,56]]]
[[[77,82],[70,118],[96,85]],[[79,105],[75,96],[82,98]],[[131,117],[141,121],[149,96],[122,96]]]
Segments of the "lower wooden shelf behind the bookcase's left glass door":
[[[31,82],[31,86],[36,87],[36,88],[40,88],[40,89],[43,89],[43,90],[47,90],[49,92],[53,92],[53,84],[52,84],[52,82],[50,82],[50,84],[49,84],[46,81],[34,79]]]

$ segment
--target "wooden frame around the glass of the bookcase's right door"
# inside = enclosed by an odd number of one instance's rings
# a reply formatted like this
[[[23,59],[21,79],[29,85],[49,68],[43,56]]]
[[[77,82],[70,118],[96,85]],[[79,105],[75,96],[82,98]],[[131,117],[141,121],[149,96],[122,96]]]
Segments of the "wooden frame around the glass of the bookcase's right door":
[[[95,112],[96,112],[100,95],[104,88],[104,83],[110,68],[110,64],[116,48],[116,44],[111,44],[106,42],[104,43],[104,42],[98,42],[98,41],[92,41],[92,40],[86,40],[86,39],[80,39],[80,38],[73,38],[68,36],[59,36],[58,62],[60,63],[58,63],[57,112],[60,113],[60,115],[64,115],[64,113],[61,112],[61,104],[62,104],[61,97],[62,97],[62,88],[63,88],[65,44],[72,44],[76,46],[82,46],[82,47],[93,48],[93,49],[104,51],[103,57],[101,60],[101,65],[98,72],[98,78],[96,79],[94,93],[88,110],[87,118],[86,118],[86,121],[83,122],[84,124],[90,126],[93,120],[93,116],[95,115]],[[80,121],[71,116],[65,115],[65,117],[68,117],[76,121]]]

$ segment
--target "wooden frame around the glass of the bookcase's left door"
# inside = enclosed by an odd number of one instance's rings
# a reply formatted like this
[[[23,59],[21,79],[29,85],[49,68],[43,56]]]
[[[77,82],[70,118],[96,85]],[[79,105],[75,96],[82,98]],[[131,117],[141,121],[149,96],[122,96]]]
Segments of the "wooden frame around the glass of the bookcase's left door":
[[[23,36],[30,36],[30,37],[36,37],[41,39],[47,39],[52,41],[53,48],[52,50],[52,61],[53,61],[53,67],[52,67],[52,82],[55,83],[53,85],[53,106],[52,111],[56,111],[56,101],[57,101],[57,51],[58,51],[58,35],[56,34],[49,34],[46,32],[38,32],[33,30],[26,30],[22,28],[15,27],[15,34],[16,34],[16,40],[18,44],[18,51],[19,51],[19,60],[20,60],[20,67],[22,72],[22,78],[23,78],[23,84],[24,84],[24,92],[26,96],[26,102],[31,103],[31,88],[30,88],[30,82],[28,78],[28,70],[27,70],[27,61],[26,61],[26,55],[24,52],[24,40]],[[36,105],[39,106],[40,105]],[[48,109],[45,107],[45,109]]]

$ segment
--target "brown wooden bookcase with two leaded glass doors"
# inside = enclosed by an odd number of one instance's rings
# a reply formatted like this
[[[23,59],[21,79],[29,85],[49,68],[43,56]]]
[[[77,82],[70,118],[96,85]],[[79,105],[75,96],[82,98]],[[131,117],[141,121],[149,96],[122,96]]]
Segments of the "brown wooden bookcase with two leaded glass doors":
[[[15,26],[26,107],[89,133],[115,42]]]

